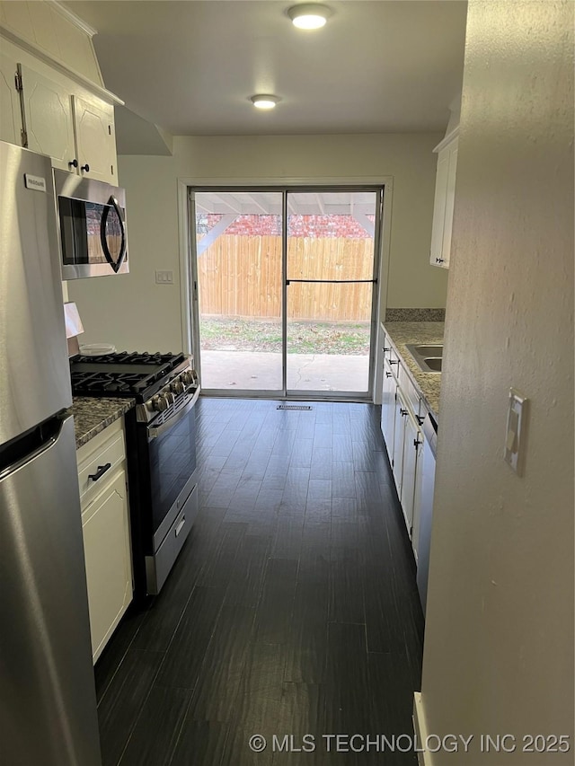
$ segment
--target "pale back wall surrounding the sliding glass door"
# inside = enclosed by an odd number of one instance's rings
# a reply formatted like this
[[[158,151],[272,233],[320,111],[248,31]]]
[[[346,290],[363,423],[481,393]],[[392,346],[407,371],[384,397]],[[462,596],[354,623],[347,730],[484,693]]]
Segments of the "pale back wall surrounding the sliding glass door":
[[[387,304],[443,307],[447,274],[429,266],[438,134],[176,137],[172,157],[122,156],[130,273],[69,283],[84,342],[118,348],[182,348],[177,180],[394,178]],[[156,286],[172,269],[173,286]]]

